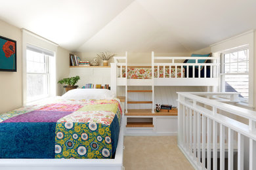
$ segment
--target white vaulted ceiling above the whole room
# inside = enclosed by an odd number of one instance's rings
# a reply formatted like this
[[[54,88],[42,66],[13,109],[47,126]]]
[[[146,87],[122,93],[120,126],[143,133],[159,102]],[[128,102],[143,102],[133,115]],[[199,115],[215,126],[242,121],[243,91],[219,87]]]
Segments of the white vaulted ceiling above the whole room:
[[[0,0],[0,20],[77,52],[184,53],[256,28],[255,0]]]

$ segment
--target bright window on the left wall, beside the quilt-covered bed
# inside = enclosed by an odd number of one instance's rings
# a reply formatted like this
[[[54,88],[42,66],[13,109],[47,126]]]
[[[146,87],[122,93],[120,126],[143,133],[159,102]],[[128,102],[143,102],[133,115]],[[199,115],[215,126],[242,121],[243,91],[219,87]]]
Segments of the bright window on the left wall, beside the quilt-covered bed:
[[[53,52],[35,46],[27,46],[27,102],[43,99],[50,96],[50,69],[49,60]]]

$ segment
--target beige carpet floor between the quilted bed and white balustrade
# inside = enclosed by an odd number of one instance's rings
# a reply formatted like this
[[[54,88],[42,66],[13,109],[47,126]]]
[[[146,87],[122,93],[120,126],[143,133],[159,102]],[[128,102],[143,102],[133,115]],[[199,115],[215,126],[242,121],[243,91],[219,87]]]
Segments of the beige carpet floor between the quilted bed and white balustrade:
[[[125,170],[194,169],[177,146],[177,137],[125,137]]]

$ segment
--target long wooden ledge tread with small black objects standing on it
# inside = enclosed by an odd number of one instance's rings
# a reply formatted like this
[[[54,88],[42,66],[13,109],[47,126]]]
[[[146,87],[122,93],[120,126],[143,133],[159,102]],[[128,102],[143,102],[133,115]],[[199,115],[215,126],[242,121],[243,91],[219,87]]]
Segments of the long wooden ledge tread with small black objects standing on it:
[[[151,109],[128,109],[125,116],[178,116],[178,110],[172,109],[169,112],[156,112],[152,113]]]

